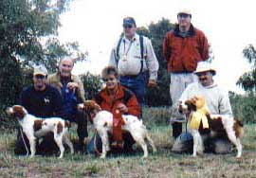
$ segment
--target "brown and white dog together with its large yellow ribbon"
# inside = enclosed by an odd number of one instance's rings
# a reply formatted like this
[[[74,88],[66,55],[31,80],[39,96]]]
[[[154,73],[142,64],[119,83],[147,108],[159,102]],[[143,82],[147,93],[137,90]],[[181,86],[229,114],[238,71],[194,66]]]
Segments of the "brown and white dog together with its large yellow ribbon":
[[[210,130],[210,134],[226,132],[237,149],[236,157],[242,155],[241,138],[244,135],[243,123],[229,115],[210,115],[205,106],[205,98],[196,96],[180,103],[179,112],[188,116],[188,128],[193,137],[193,153],[204,151],[200,130]]]

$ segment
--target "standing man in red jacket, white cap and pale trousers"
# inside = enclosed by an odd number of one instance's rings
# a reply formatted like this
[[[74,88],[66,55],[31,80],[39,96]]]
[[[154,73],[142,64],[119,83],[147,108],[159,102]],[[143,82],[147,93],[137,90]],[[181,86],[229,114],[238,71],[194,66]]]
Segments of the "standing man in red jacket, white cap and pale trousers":
[[[167,32],[163,41],[163,55],[168,61],[171,76],[170,95],[173,100],[171,123],[173,136],[182,133],[184,119],[176,111],[177,100],[188,84],[196,81],[193,71],[197,62],[209,58],[208,40],[204,33],[192,26],[192,14],[181,10],[177,14],[178,25]]]

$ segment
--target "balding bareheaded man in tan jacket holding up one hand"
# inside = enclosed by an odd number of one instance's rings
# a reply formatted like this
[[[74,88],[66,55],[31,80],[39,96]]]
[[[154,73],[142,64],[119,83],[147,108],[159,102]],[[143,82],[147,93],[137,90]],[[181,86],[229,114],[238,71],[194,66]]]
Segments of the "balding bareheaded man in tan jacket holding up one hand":
[[[80,150],[84,151],[85,138],[87,133],[87,119],[82,112],[78,111],[77,104],[85,101],[82,81],[79,77],[71,74],[74,61],[65,58],[59,63],[58,72],[49,75],[48,83],[57,87],[64,98],[64,118],[78,124],[77,133],[79,136]]]

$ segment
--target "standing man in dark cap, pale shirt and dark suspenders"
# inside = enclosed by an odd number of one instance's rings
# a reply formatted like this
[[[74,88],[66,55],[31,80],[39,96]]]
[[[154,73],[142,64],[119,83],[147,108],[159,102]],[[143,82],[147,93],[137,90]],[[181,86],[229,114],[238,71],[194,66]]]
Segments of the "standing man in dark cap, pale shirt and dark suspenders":
[[[142,106],[146,85],[156,85],[158,61],[151,41],[136,33],[137,26],[133,17],[124,18],[122,27],[124,35],[112,49],[109,65],[118,68],[120,83],[135,93]]]

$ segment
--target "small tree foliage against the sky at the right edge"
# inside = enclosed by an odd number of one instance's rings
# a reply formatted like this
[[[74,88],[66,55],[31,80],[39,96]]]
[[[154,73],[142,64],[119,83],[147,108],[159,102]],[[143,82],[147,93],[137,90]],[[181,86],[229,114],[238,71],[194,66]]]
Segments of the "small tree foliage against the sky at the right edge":
[[[243,74],[236,82],[237,85],[248,92],[256,92],[256,49],[253,45],[248,45],[244,50],[244,57],[247,59],[251,66],[251,71]]]

